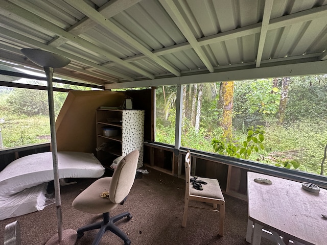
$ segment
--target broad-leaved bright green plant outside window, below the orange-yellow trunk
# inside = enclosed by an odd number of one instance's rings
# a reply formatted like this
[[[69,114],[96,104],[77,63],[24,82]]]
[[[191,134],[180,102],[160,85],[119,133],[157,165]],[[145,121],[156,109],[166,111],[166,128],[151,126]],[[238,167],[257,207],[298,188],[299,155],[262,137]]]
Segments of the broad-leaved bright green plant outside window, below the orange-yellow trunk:
[[[220,140],[218,140],[213,138],[212,146],[214,152],[218,152],[221,155],[249,159],[253,152],[258,153],[259,149],[265,149],[263,144],[265,139],[264,134],[265,130],[263,126],[256,126],[255,129],[253,129],[252,126],[247,129],[246,140],[242,141],[236,138],[233,138],[232,140],[220,138]]]

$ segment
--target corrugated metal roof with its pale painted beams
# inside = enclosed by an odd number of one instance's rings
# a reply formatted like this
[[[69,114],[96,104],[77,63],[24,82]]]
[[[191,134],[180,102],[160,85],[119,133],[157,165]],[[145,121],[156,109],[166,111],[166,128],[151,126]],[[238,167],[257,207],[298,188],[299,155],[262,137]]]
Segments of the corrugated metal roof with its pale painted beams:
[[[0,64],[37,68],[21,48],[69,58],[57,76],[108,87],[300,63],[327,73],[327,0],[0,0]]]

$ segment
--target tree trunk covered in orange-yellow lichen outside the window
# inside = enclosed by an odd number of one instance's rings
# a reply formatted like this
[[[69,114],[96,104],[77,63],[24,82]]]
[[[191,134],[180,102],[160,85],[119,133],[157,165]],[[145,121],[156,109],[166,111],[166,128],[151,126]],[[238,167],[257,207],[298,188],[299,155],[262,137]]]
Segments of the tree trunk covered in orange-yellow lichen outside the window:
[[[221,118],[218,118],[219,126],[223,130],[223,137],[232,137],[232,110],[233,110],[234,82],[221,82],[219,88],[219,100],[217,109],[221,111]]]

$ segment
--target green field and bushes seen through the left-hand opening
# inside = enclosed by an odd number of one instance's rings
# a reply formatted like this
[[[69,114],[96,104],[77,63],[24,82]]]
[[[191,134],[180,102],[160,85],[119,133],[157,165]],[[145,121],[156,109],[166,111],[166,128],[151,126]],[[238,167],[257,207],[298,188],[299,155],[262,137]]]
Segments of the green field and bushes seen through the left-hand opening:
[[[29,84],[45,85],[46,82],[29,80]],[[54,85],[55,86],[55,85]],[[56,84],[70,89],[86,87]],[[68,93],[54,91],[55,115]],[[0,149],[14,146],[50,142],[48,92],[25,88],[0,87]]]

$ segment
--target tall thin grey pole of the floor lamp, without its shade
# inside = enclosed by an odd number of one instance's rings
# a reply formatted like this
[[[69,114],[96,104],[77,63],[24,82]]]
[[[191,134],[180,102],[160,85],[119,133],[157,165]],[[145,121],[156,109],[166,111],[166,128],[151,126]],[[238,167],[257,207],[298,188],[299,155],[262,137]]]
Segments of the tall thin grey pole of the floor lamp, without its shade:
[[[62,214],[61,214],[61,198],[60,198],[60,184],[59,184],[59,168],[58,168],[58,154],[57,154],[57,138],[56,138],[56,121],[55,121],[55,109],[53,99],[53,86],[52,77],[54,68],[43,67],[48,81],[48,100],[49,100],[49,114],[50,114],[50,131],[51,131],[51,148],[52,148],[52,160],[53,160],[53,173],[56,195],[56,210],[57,210],[57,222],[58,222],[58,239],[59,242],[63,240],[62,237]]]

